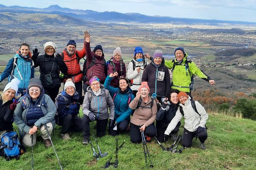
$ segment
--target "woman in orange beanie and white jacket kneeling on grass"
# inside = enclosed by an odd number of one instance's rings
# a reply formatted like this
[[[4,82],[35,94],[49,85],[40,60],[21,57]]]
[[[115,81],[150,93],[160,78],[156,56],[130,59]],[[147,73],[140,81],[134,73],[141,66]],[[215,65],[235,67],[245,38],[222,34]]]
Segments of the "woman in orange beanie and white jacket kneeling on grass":
[[[204,107],[198,101],[191,101],[190,96],[181,91],[178,94],[180,100],[180,107],[178,108],[175,117],[172,119],[165,131],[165,137],[169,135],[172,130],[175,129],[177,123],[184,116],[184,131],[182,138],[183,147],[191,147],[192,139],[194,136],[198,136],[200,140],[200,148],[206,149],[204,144],[207,139],[206,121],[208,114],[204,110]],[[194,102],[194,104],[193,104]],[[193,106],[194,105],[194,106]],[[182,113],[183,112],[183,113]]]

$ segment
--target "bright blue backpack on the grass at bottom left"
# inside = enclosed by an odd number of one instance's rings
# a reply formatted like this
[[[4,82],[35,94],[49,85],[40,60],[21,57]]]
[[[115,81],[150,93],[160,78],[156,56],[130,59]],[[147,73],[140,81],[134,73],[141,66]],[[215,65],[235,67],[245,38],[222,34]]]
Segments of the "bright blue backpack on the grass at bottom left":
[[[1,137],[0,155],[9,161],[12,158],[20,159],[20,141],[17,132],[6,132]]]

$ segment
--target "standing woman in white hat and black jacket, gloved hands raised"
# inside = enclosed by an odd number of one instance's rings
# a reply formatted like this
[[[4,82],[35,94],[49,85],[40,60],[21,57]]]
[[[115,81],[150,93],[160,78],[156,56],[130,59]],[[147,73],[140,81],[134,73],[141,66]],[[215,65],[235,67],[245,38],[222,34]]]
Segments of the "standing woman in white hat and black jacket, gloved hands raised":
[[[57,48],[54,42],[46,42],[44,44],[44,54],[38,57],[32,57],[35,62],[35,68],[40,67],[40,80],[44,87],[44,94],[51,97],[55,102],[55,98],[59,93],[61,82],[59,80],[60,71],[63,74],[67,73],[67,65],[63,61],[60,54],[55,53]]]

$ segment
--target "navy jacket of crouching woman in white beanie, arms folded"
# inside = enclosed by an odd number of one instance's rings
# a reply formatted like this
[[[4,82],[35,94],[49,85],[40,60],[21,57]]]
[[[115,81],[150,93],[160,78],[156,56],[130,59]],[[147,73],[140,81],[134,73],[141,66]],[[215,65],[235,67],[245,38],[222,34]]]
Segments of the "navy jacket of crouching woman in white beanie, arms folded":
[[[66,97],[68,100],[66,101],[64,97]],[[58,94],[56,99],[58,105],[58,115],[61,118],[64,118],[67,114],[71,114],[73,117],[75,117],[79,113],[80,109],[80,105],[76,103],[78,101],[79,94],[77,92],[75,92],[73,96],[70,96],[66,93],[66,91],[61,91],[61,93]]]

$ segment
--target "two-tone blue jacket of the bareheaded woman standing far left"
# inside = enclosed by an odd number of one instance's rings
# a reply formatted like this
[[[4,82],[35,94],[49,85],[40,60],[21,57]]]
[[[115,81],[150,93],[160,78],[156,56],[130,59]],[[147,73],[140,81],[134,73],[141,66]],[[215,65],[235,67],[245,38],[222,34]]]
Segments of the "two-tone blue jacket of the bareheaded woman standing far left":
[[[13,62],[14,58],[17,58],[17,67],[15,67],[13,73]],[[6,65],[5,70],[0,75],[0,82],[2,82],[6,77],[8,78],[8,81],[11,82],[11,80],[15,77],[17,77],[20,80],[20,84],[18,85],[18,92],[22,92],[23,89],[26,89],[29,85],[29,80],[31,78],[34,78],[34,64],[32,63],[32,59],[23,59],[20,57],[18,53],[15,54],[14,58],[10,59],[8,64]],[[20,71],[20,74],[18,72]],[[12,73],[12,75],[11,75]],[[21,78],[22,77],[22,78]]]

